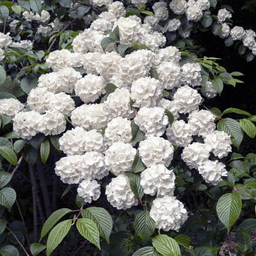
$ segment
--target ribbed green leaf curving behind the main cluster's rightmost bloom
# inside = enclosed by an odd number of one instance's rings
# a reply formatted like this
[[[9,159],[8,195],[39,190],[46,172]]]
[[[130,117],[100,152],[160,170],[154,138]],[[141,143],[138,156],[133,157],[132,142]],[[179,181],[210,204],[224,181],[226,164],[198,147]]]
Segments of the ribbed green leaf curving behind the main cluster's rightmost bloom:
[[[242,131],[240,124],[231,118],[224,118],[217,124],[219,131],[224,131],[231,136],[232,144],[239,149],[239,146],[244,137],[244,131]]]

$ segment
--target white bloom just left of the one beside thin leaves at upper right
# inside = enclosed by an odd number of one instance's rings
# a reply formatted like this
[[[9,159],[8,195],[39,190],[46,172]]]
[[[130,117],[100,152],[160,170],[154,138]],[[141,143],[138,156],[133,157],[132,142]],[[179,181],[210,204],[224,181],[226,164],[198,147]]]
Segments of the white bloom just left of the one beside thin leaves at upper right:
[[[164,89],[173,89],[181,84],[180,67],[172,62],[161,62],[157,67],[158,79]]]

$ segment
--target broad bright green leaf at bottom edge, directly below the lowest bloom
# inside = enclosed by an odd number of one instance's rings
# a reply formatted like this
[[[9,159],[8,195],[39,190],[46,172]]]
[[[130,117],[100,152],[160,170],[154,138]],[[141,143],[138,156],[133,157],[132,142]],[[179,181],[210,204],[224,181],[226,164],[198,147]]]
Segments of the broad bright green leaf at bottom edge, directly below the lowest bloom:
[[[173,238],[168,237],[168,235],[157,235],[152,239],[152,244],[164,256],[181,256],[178,243]]]

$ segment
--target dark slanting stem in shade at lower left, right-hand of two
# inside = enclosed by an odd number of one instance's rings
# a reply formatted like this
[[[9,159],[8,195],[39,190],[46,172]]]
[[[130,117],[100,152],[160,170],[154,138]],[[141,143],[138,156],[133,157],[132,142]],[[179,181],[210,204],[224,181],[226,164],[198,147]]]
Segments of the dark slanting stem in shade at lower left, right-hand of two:
[[[40,183],[41,190],[43,193],[43,198],[44,198],[46,217],[48,218],[52,212],[51,211],[51,203],[50,203],[50,196],[49,196],[48,188],[46,185],[46,179],[45,179],[45,175],[44,175],[42,161],[40,159],[39,154],[37,157],[37,171],[38,171],[39,183]]]

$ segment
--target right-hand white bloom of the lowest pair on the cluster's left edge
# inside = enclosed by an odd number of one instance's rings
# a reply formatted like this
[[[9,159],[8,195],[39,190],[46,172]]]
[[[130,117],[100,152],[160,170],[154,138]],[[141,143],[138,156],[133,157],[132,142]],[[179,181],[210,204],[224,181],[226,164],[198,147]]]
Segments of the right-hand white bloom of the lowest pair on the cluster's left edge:
[[[66,129],[66,119],[58,110],[47,110],[42,115],[42,121],[38,125],[39,132],[47,135],[57,135]]]

